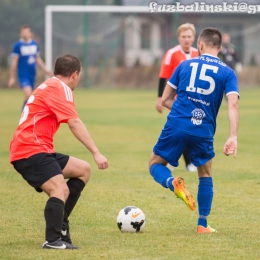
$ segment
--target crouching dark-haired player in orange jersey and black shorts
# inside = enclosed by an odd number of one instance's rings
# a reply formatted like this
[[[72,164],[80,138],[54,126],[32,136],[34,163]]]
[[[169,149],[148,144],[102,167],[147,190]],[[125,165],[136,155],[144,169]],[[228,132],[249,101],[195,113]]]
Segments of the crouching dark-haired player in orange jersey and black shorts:
[[[68,217],[90,178],[90,165],[56,153],[53,137],[61,123],[92,153],[99,169],[108,160],[99,152],[74,105],[73,90],[81,73],[79,60],[65,55],[56,60],[54,77],[43,82],[29,97],[10,144],[10,162],[17,172],[49,199],[43,248],[77,249],[72,245]],[[67,182],[65,179],[69,179]]]

